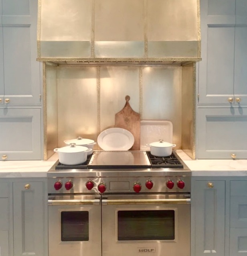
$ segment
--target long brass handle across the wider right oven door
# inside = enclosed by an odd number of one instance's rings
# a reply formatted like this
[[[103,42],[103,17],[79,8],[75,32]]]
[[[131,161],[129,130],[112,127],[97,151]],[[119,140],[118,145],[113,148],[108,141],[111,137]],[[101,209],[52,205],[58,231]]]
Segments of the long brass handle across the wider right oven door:
[[[102,199],[102,205],[190,204],[187,199]]]

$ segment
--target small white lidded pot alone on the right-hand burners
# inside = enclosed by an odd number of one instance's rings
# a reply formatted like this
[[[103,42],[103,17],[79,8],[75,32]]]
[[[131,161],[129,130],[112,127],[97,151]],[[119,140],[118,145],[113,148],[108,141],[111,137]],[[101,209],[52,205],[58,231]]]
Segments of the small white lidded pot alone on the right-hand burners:
[[[150,153],[153,156],[170,156],[172,154],[172,148],[176,147],[176,144],[165,142],[163,139],[146,145],[150,147]]]

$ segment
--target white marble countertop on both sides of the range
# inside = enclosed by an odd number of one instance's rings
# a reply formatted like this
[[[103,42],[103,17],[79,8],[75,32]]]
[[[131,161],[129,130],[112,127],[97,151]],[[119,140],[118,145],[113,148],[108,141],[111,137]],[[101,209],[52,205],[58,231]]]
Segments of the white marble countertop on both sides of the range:
[[[247,176],[247,159],[192,160],[182,150],[177,153],[192,171],[192,176]],[[57,159],[55,153],[47,161],[0,161],[0,178],[44,178]]]

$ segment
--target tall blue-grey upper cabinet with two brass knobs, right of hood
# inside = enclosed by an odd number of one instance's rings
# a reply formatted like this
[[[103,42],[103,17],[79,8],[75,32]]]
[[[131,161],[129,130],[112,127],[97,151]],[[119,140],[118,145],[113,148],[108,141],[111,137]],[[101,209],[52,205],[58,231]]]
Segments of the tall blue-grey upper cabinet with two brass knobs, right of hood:
[[[200,1],[198,103],[247,104],[247,8],[243,0]]]

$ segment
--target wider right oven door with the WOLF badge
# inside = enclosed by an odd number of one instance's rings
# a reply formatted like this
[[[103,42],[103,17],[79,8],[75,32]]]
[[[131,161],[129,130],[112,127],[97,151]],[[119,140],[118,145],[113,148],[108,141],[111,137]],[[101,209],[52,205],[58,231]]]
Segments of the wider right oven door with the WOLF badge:
[[[190,256],[190,195],[102,198],[102,256]]]

